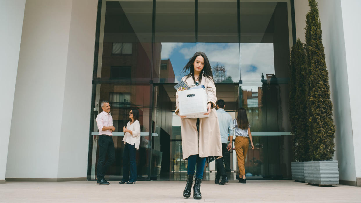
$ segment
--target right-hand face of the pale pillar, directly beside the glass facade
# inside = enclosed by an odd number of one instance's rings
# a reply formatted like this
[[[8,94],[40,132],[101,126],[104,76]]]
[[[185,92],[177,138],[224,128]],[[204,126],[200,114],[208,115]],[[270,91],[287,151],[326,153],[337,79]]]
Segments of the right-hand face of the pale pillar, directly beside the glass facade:
[[[71,9],[58,178],[86,177],[97,5],[74,0]]]

